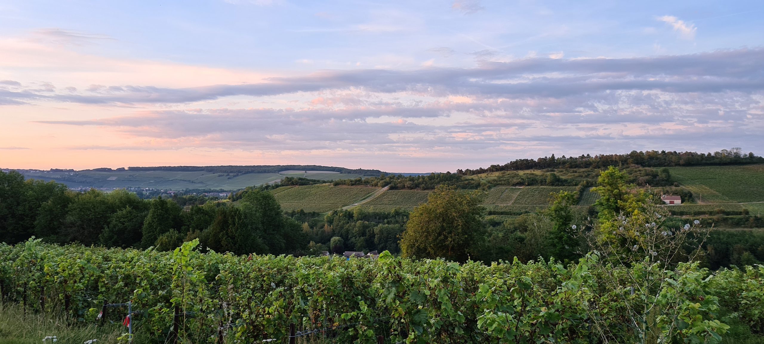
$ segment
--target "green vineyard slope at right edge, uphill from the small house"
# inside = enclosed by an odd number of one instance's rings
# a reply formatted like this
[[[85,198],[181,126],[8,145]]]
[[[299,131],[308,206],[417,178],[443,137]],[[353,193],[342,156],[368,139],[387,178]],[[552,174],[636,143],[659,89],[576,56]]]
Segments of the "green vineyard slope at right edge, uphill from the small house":
[[[764,201],[764,165],[669,167],[702,203]]]

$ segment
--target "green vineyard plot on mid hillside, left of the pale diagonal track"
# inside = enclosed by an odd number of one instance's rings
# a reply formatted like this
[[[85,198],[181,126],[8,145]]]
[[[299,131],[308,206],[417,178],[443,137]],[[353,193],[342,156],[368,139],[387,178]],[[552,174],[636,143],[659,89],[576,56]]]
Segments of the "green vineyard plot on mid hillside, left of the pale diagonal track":
[[[326,213],[357,203],[379,190],[377,187],[332,187],[331,185],[306,185],[280,187],[271,190],[284,210],[303,209],[306,212]]]

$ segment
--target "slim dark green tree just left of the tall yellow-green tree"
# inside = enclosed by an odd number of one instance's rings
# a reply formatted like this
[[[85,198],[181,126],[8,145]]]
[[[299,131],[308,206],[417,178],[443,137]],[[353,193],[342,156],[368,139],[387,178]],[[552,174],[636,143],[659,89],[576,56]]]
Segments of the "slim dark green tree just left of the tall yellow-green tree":
[[[562,261],[571,261],[578,257],[578,231],[573,227],[574,213],[571,208],[577,203],[575,193],[560,191],[552,193],[552,201],[546,209],[546,214],[552,219],[552,231],[547,237],[549,253]]]

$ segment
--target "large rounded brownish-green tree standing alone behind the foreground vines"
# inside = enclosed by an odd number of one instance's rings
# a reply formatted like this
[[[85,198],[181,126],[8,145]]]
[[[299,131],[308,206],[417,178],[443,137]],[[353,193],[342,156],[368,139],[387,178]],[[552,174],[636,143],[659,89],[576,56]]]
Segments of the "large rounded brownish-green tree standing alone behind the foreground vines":
[[[400,241],[401,255],[466,261],[483,232],[483,219],[477,193],[441,185],[411,213]]]

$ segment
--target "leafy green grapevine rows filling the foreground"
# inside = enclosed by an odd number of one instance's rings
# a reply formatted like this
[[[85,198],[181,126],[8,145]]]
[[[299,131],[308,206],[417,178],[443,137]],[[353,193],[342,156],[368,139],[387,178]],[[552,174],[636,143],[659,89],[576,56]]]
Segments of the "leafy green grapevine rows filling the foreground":
[[[125,321],[129,303],[139,342],[285,342],[292,326],[293,336],[324,333],[331,342],[631,342],[624,321],[643,300],[662,305],[657,312],[676,311],[651,320],[671,342],[718,342],[729,328],[720,323],[726,312],[756,331],[764,322],[761,266],[711,274],[680,264],[659,271],[670,283],[647,291],[656,293],[651,297],[607,287],[646,273],[644,266],[602,265],[597,255],[566,268],[388,253],[377,260],[248,258],[202,254],[194,245],[155,252],[2,244],[0,294],[26,312],[66,310],[83,324]]]

